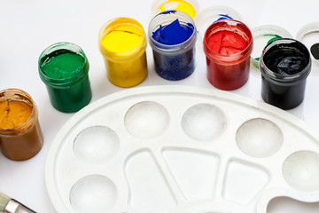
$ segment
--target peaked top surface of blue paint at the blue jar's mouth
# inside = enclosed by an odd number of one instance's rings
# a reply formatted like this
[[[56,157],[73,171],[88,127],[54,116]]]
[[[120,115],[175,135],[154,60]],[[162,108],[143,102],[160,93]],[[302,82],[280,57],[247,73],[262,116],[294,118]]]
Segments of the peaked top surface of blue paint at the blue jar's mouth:
[[[183,43],[189,37],[191,37],[194,31],[194,27],[188,23],[187,25],[181,25],[179,20],[176,19],[167,26],[160,26],[152,37],[155,41],[163,44],[178,44]]]

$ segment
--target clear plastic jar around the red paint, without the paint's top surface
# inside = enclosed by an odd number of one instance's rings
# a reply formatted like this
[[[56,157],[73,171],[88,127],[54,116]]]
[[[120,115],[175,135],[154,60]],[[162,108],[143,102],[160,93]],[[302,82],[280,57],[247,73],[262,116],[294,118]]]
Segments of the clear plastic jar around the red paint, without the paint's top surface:
[[[222,54],[214,51],[208,40],[219,32],[237,35],[246,45],[237,53]],[[253,51],[253,36],[250,29],[238,20],[218,20],[206,29],[204,41],[207,78],[214,87],[230,91],[243,86],[249,78],[250,55]]]

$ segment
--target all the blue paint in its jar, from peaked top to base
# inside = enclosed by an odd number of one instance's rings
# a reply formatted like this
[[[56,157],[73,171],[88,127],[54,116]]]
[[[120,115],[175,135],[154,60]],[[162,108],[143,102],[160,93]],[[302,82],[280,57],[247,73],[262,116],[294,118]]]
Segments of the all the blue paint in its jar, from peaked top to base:
[[[193,24],[181,23],[176,19],[152,32],[153,40],[159,43],[155,44],[159,49],[153,48],[155,71],[159,76],[176,81],[192,74],[197,37],[194,31],[196,28]]]

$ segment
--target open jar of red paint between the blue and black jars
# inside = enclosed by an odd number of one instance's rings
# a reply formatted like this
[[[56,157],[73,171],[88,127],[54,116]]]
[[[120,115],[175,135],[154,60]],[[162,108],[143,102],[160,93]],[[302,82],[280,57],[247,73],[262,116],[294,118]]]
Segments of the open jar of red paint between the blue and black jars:
[[[218,20],[206,29],[203,40],[207,79],[214,87],[230,91],[249,78],[253,36],[238,20]]]

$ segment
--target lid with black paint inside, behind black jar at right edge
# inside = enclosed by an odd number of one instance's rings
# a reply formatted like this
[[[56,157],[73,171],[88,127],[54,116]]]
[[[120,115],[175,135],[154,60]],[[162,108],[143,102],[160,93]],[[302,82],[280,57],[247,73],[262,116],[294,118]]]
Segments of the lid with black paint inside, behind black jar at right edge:
[[[313,66],[319,67],[319,22],[312,22],[300,28],[296,39],[307,47]]]

